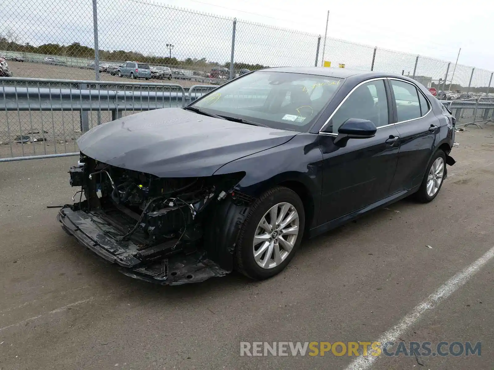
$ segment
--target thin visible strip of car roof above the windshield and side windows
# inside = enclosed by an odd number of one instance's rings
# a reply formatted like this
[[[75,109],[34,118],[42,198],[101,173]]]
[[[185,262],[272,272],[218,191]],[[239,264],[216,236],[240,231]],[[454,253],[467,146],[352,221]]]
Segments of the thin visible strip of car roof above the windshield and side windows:
[[[315,74],[319,76],[334,77],[334,78],[348,78],[357,75],[360,75],[363,79],[372,78],[372,77],[400,77],[400,78],[405,77],[400,74],[352,70],[350,68],[327,68],[327,67],[274,67],[274,68],[265,68],[260,71]],[[408,79],[408,78],[404,78],[404,79]]]

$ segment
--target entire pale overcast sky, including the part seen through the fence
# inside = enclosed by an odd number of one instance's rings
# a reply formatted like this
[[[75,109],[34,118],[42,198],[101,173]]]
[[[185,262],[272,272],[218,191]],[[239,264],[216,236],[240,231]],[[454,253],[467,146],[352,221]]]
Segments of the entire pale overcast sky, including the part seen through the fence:
[[[308,66],[314,65],[317,35],[324,37],[329,10],[330,38],[324,59],[332,66],[345,63],[347,68],[369,70],[373,46],[378,46],[374,70],[412,74],[415,55],[454,64],[461,47],[453,82],[468,84],[471,68],[465,65],[478,68],[473,86],[486,86],[491,74],[487,70],[494,71],[494,4],[489,1],[155,0],[154,4],[148,0],[98,0],[100,48],[163,56],[169,53],[166,43],[171,42],[172,56],[178,59],[206,57],[224,63],[230,60],[232,22],[222,17],[236,17],[235,61]],[[78,41],[93,46],[89,0],[2,0],[0,21],[3,31],[13,30],[23,42]],[[319,62],[322,49],[323,41]],[[442,61],[420,58],[416,74],[444,78],[446,67]]]

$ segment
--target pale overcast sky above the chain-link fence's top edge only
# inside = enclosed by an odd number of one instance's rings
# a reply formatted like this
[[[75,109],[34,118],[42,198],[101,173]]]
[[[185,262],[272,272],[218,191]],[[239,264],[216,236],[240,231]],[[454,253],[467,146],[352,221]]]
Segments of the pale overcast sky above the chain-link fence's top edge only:
[[[158,0],[228,17],[494,70],[491,1]]]

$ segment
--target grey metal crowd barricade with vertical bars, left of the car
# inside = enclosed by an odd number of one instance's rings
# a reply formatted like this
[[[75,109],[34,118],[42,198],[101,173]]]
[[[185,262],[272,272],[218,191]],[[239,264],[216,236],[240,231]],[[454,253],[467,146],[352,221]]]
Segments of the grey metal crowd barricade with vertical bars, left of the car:
[[[0,162],[78,155],[92,127],[139,111],[183,107],[178,84],[0,78]]]

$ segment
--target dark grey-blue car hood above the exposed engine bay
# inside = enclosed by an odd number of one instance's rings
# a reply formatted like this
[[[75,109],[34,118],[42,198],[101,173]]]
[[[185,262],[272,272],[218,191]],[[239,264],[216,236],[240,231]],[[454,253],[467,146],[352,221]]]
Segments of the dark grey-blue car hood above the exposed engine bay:
[[[96,126],[77,144],[83,154],[112,166],[158,177],[196,177],[296,134],[164,108]]]

